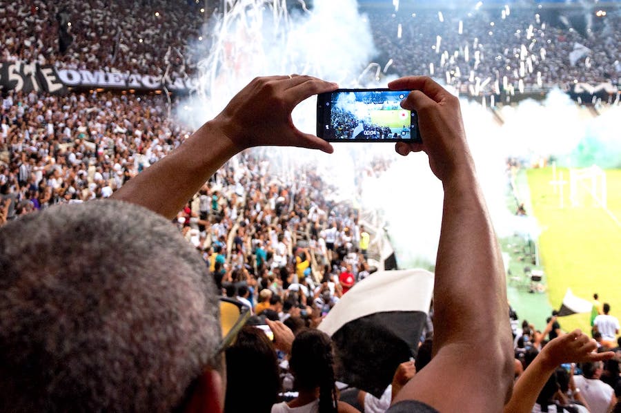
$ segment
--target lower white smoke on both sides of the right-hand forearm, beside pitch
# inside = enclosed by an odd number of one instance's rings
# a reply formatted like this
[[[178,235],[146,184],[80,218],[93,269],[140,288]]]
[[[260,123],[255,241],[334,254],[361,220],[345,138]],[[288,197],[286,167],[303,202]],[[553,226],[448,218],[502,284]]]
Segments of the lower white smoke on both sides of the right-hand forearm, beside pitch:
[[[520,234],[537,239],[540,233],[534,218],[507,209],[511,196],[507,158],[521,158],[533,166],[549,157],[573,167],[618,168],[621,162],[621,142],[614,133],[621,106],[601,108],[602,114],[595,116],[565,93],[552,90],[542,102],[528,99],[500,108],[502,125],[479,102],[461,99],[461,107],[477,176],[498,236]],[[442,185],[431,173],[426,155],[393,156],[397,160],[391,169],[365,181],[362,204],[384,211],[400,265],[433,264],[440,238]]]

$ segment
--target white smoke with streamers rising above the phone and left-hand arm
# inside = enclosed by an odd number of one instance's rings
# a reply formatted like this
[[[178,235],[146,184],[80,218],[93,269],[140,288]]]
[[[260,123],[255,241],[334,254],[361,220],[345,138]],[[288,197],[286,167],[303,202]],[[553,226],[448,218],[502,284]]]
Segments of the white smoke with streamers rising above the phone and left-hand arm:
[[[286,2],[237,0],[204,30],[212,39],[199,64],[199,93],[182,104],[177,117],[198,128],[257,76],[304,74],[341,87],[356,79],[375,54],[366,16],[355,0],[317,0],[310,12],[289,14]],[[314,132],[315,108],[302,106],[296,125]],[[298,114],[302,113],[297,111]]]

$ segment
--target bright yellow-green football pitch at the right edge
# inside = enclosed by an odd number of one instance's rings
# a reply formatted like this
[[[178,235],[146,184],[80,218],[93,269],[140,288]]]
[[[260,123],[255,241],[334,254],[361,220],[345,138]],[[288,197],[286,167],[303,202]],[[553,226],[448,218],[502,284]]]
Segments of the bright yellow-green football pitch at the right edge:
[[[553,170],[530,169],[526,172],[531,209],[538,221],[540,265],[544,270],[549,305],[558,309],[566,289],[575,296],[609,302],[611,314],[621,318],[621,170],[607,170],[607,208],[589,194],[591,181],[578,185],[578,204],[570,201],[569,171],[563,174],[561,191],[550,183]],[[519,315],[519,313],[518,313]],[[549,314],[542,314],[545,319]],[[564,331],[580,328],[590,332],[590,314],[560,318]],[[520,317],[522,318],[522,317]],[[538,327],[541,323],[537,323]]]

